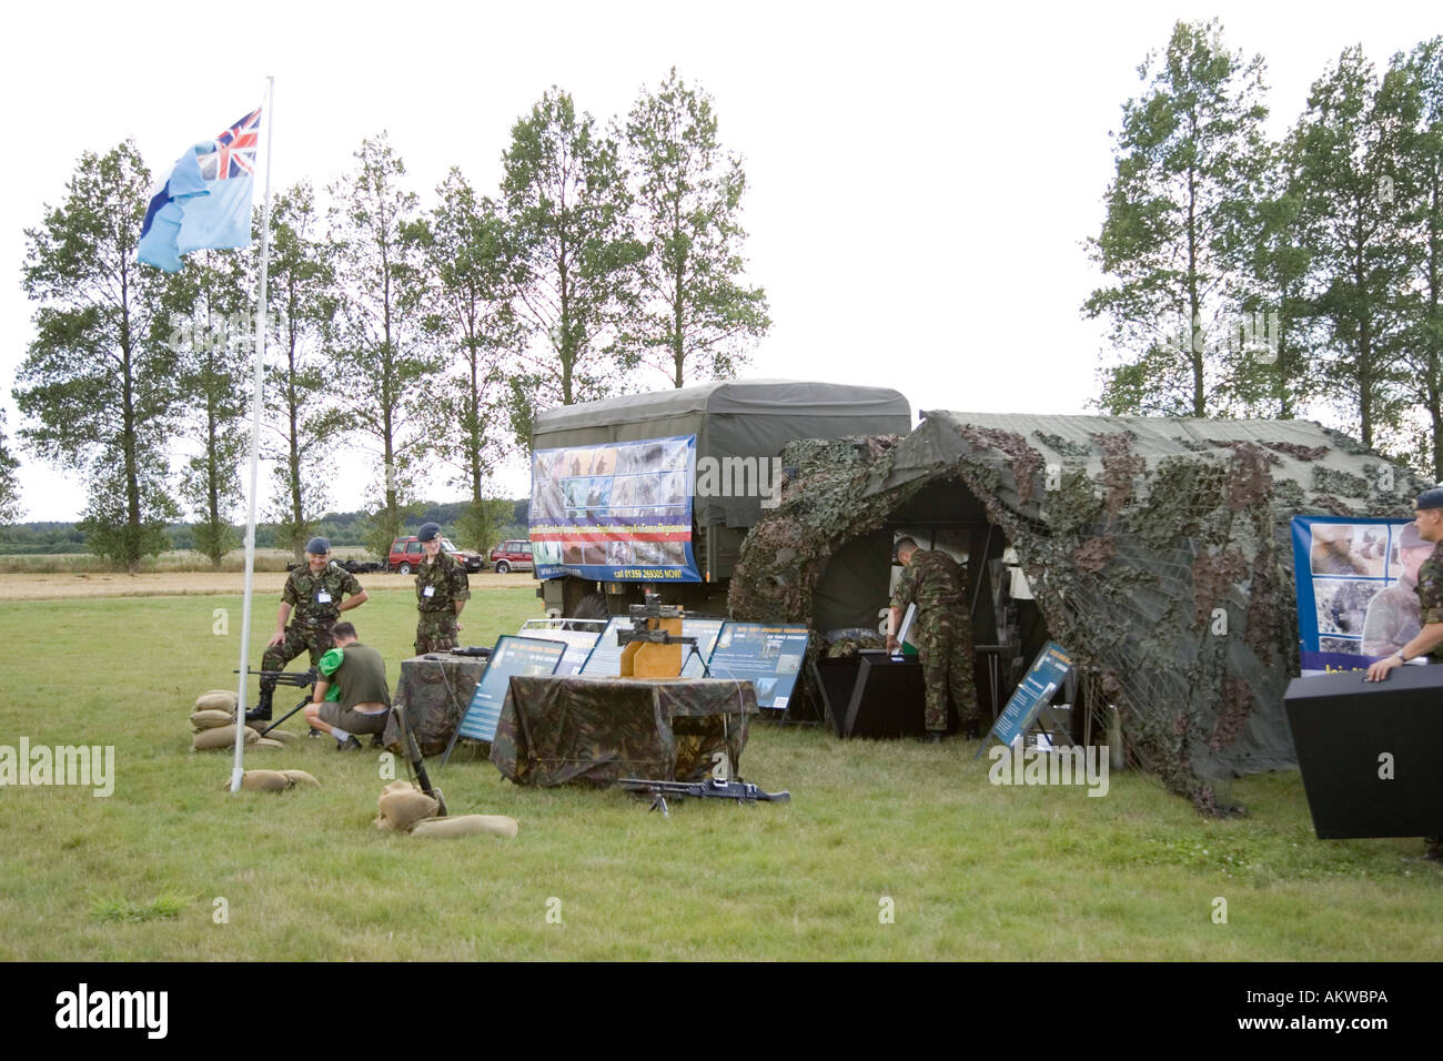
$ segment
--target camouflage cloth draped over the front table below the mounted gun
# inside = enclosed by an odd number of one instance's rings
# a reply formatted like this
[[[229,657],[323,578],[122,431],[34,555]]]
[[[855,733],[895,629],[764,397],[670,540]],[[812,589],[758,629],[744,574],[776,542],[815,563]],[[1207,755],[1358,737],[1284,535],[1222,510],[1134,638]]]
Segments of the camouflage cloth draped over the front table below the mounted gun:
[[[736,777],[758,713],[750,681],[514,677],[491,761],[518,785],[700,781],[726,752]]]

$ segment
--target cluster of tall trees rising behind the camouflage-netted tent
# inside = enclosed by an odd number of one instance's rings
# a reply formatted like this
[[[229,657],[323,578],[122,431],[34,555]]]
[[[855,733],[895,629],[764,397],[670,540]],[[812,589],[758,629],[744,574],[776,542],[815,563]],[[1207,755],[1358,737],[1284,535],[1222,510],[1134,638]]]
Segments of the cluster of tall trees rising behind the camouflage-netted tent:
[[[1278,140],[1266,64],[1216,20],[1139,68],[1088,240],[1107,284],[1097,406],[1113,414],[1326,411],[1443,478],[1443,36],[1378,71],[1346,48]]]

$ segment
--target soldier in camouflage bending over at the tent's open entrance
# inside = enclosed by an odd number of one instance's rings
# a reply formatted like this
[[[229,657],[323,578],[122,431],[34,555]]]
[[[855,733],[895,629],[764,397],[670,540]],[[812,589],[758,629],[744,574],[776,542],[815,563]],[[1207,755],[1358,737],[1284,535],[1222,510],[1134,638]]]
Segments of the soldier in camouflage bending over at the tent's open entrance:
[[[973,683],[973,622],[967,611],[967,576],[947,553],[918,549],[912,538],[898,543],[902,577],[892,596],[892,629],[900,626],[909,603],[916,618],[908,639],[918,647],[922,678],[926,683],[928,739],[941,741],[947,732],[947,694],[951,691],[957,713],[967,732],[974,732],[980,715]],[[900,645],[887,635],[887,648]]]

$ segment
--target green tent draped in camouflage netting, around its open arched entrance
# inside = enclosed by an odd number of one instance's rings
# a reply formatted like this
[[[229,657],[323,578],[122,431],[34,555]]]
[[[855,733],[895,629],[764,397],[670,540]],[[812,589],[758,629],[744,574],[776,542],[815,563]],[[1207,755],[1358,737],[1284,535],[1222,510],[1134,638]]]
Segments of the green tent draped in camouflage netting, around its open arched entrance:
[[[955,482],[1016,549],[1052,639],[1120,709],[1130,759],[1206,814],[1234,810],[1224,778],[1296,767],[1291,517],[1408,517],[1430,485],[1296,420],[924,417],[900,440],[788,447],[797,475],[747,536],[732,615],[808,622],[828,557]]]

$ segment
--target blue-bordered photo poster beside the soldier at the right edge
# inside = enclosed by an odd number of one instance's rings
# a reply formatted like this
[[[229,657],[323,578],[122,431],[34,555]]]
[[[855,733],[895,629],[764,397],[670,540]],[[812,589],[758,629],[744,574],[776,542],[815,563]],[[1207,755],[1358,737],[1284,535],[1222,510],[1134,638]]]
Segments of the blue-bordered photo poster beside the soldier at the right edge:
[[[1293,517],[1302,673],[1364,670],[1417,637],[1431,554],[1411,520]]]

